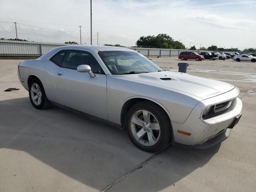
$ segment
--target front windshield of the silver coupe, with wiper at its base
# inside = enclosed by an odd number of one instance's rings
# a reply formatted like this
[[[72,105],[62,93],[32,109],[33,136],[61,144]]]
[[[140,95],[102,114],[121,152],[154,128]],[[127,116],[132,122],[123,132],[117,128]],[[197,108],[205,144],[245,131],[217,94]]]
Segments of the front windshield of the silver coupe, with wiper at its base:
[[[111,74],[135,74],[161,70],[161,68],[138,52],[99,51],[98,54]]]

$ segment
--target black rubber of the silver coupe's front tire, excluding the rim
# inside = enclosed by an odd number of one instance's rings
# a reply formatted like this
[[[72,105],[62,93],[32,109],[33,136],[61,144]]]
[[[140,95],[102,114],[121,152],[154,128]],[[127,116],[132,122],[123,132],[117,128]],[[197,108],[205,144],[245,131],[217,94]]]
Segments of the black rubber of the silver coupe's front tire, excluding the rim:
[[[152,146],[144,146],[140,144],[133,136],[132,129],[131,129],[131,118],[132,116],[138,112],[139,110],[147,110],[153,116],[156,117],[159,125],[160,125],[160,136],[158,141]],[[146,127],[146,126],[145,126]],[[140,148],[141,150],[147,152],[157,152],[162,150],[163,148],[167,147],[171,141],[171,123],[169,117],[166,115],[165,111],[158,106],[157,104],[151,102],[138,102],[134,104],[130,110],[128,111],[128,119],[126,121],[126,128],[128,131],[128,135],[132,143]],[[138,126],[137,126],[138,128]],[[141,129],[142,127],[138,128]]]

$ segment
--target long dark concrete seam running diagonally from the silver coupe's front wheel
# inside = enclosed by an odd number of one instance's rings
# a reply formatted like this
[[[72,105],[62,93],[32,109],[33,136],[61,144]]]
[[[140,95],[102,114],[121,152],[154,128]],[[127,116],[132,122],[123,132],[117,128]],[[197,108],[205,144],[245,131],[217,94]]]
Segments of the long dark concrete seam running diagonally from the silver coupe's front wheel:
[[[166,151],[168,149],[164,148],[158,152],[156,152],[154,155],[152,155],[150,158],[146,159],[144,162],[142,162],[141,164],[139,164],[138,166],[136,166],[136,168],[132,169],[130,172],[126,173],[124,176],[118,178],[117,180],[115,180],[114,182],[112,182],[110,185],[106,186],[104,189],[102,189],[100,192],[106,192],[107,190],[109,190],[112,186],[114,186],[115,184],[117,184],[118,182],[120,182],[121,180],[123,180],[124,178],[126,178],[127,176],[129,176],[130,174],[132,174],[133,172],[135,172],[138,169],[143,168],[144,165],[146,165],[152,158],[154,158],[155,156],[157,156],[158,154]]]

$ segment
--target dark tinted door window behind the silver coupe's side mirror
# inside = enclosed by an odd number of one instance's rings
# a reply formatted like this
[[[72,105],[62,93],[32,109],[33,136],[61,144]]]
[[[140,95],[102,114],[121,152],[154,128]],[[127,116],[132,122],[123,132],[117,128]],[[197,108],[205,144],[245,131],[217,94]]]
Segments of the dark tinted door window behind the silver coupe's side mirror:
[[[92,72],[104,74],[100,64],[89,52],[68,51],[63,60],[62,67],[76,70],[79,65],[89,65],[92,68]]]

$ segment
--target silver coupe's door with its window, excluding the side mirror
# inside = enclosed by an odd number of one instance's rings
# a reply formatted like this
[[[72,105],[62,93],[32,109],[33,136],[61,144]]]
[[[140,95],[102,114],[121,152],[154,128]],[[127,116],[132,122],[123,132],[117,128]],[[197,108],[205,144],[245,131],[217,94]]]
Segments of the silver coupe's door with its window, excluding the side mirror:
[[[78,72],[82,64],[89,65],[95,77]],[[59,104],[107,120],[106,75],[92,54],[69,50],[56,73]]]

